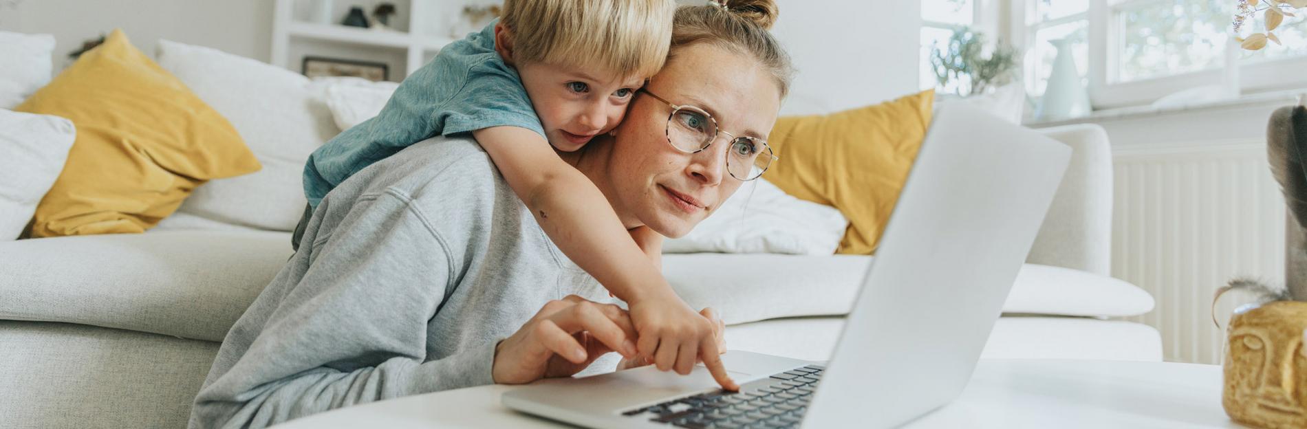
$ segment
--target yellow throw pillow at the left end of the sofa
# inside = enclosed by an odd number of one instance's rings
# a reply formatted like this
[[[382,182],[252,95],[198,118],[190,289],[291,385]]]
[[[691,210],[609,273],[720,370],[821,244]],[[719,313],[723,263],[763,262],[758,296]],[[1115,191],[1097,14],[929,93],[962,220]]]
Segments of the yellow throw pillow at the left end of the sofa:
[[[225,118],[120,30],[14,110],[77,128],[31,237],[141,233],[205,180],[261,167]]]

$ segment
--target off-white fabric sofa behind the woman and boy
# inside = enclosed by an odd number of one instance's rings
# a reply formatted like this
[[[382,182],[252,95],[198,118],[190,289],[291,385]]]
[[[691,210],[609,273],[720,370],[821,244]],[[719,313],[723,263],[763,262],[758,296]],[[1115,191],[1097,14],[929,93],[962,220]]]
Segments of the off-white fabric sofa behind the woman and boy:
[[[0,428],[184,426],[227,330],[293,254],[298,167],[341,118],[302,76],[159,46],[159,64],[227,115],[264,169],[201,186],[144,234],[0,242]],[[260,88],[223,86],[246,81]],[[1108,276],[1106,133],[1040,132],[1073,158],[983,357],[1159,361],[1158,332],[1120,319],[1153,298]],[[686,301],[721,313],[731,349],[825,360],[872,258],[693,252],[663,266]]]

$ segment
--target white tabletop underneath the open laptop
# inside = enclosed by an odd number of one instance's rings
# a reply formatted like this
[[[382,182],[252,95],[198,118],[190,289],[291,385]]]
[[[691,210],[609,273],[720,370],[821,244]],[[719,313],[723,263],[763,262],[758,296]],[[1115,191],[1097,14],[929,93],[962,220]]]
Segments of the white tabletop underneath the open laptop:
[[[501,405],[499,395],[511,388],[481,386],[383,400],[278,428],[566,428]],[[958,400],[907,428],[1243,426],[1221,409],[1221,366],[982,360]]]

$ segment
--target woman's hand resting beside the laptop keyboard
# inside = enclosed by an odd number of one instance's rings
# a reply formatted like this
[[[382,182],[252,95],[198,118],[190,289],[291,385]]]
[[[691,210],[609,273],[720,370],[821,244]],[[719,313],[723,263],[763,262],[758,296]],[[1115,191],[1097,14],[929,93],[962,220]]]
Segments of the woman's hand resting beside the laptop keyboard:
[[[501,385],[569,377],[608,352],[635,357],[634,337],[635,327],[621,307],[567,296],[545,303],[495,345],[490,374]]]

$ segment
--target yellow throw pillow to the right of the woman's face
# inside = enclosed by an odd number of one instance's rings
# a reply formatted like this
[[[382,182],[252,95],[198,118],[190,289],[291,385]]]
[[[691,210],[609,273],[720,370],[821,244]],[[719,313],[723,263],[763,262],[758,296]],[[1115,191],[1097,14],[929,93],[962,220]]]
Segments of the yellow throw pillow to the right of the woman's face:
[[[767,143],[776,156],[766,178],[848,217],[838,254],[869,255],[931,124],[935,90],[830,115],[776,120]]]

